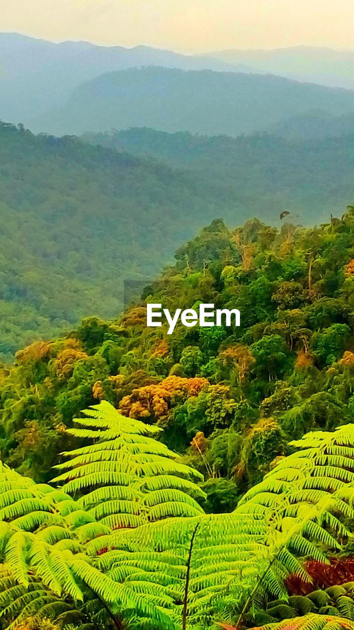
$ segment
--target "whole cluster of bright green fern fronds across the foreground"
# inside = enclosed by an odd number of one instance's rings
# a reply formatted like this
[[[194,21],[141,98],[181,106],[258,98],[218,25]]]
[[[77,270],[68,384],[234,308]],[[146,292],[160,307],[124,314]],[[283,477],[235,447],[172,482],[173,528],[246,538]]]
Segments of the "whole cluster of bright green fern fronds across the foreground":
[[[351,536],[351,425],[305,435],[234,513],[205,515],[195,500],[202,496],[198,474],[152,437],[156,428],[120,416],[108,403],[85,413],[79,435],[94,442],[66,453],[56,480],[62,488],[0,467],[7,519],[0,522],[0,553],[11,564],[0,599],[6,617],[18,605],[21,614],[31,606],[45,614],[61,599],[73,610],[96,602],[103,616],[118,627],[122,619],[129,630],[186,630],[212,626],[215,614],[231,607],[242,621],[251,602],[260,613],[267,593],[278,600],[265,610],[267,618],[317,606],[309,596],[298,610],[284,580],[288,573],[305,580],[303,558],[326,563],[327,551],[340,550]],[[20,604],[11,608],[14,602]],[[330,628],[333,611],[338,624],[343,617],[351,624],[348,590],[328,590],[323,602],[317,614],[292,619],[299,623],[294,628],[322,630],[323,619]]]

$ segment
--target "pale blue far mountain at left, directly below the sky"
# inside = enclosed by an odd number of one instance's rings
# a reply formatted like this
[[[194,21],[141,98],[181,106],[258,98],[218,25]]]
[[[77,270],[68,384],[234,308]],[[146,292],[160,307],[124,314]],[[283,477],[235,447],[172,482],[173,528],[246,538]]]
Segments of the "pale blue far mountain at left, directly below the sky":
[[[233,69],[222,60],[146,46],[127,49],[88,42],[54,43],[0,33],[0,119],[26,123],[28,117],[62,106],[72,89],[84,81],[105,72],[151,65],[183,70]]]

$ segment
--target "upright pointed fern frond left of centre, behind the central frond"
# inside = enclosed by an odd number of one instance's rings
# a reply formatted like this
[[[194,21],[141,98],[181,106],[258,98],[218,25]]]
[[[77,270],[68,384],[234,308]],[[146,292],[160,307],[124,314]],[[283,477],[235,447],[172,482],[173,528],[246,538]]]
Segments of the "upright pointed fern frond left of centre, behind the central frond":
[[[203,513],[194,497],[205,495],[193,481],[202,476],[157,442],[161,430],[105,401],[83,413],[81,428],[69,433],[93,444],[65,452],[69,461],[56,466],[61,474],[53,483],[77,495],[84,510],[111,529]]]

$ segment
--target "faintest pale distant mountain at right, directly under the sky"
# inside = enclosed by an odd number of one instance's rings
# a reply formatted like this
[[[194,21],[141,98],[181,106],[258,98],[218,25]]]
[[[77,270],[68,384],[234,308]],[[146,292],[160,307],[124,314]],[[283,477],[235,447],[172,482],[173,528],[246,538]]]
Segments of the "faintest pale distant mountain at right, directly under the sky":
[[[354,88],[354,52],[351,50],[297,46],[275,50],[222,50],[210,56],[235,66],[246,64],[253,72]]]

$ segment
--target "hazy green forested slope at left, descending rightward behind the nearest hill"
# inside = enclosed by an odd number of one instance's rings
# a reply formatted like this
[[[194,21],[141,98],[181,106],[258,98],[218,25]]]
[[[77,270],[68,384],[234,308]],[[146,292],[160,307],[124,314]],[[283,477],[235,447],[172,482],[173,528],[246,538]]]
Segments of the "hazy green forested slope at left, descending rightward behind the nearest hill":
[[[150,278],[215,214],[218,183],[151,159],[0,125],[0,355],[118,316],[123,281]],[[188,217],[188,221],[185,221]]]

